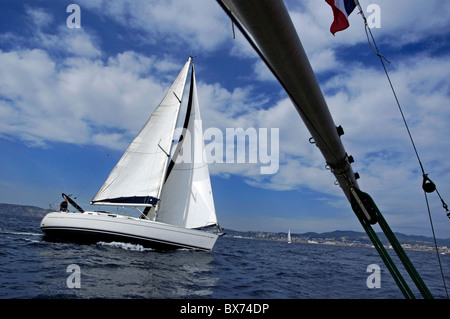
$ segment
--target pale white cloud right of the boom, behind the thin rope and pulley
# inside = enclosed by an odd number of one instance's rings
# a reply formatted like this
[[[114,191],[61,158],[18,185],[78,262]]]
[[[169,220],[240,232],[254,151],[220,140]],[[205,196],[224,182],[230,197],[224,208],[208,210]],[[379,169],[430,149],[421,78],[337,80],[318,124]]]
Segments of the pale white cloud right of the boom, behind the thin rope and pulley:
[[[426,173],[434,177],[441,192],[449,193],[446,147],[450,129],[448,59],[407,59],[391,70],[403,112]],[[353,68],[330,80],[327,97],[342,137],[354,155],[353,165],[361,174],[360,185],[374,198],[383,198],[389,211],[406,213],[423,205],[421,172],[400,111],[383,71]]]

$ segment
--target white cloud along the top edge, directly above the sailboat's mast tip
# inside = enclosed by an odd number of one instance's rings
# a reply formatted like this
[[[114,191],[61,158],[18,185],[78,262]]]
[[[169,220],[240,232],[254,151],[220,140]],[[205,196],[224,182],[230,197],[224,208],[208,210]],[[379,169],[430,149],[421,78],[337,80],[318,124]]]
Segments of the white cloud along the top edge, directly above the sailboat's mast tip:
[[[215,1],[83,0],[80,5],[139,31],[142,41],[158,43],[164,52],[170,47],[185,47],[192,55],[215,50],[231,34]]]

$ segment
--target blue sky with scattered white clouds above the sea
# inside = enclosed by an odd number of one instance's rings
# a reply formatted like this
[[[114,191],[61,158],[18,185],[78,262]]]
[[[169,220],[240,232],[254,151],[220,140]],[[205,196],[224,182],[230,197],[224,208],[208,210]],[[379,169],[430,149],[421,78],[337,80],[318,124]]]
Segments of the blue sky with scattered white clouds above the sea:
[[[425,172],[450,204],[450,2],[360,3]],[[285,4],[360,188],[393,231],[431,236],[420,166],[361,16],[333,36],[325,1]],[[213,0],[0,0],[0,202],[48,208],[64,192],[86,209],[189,56],[205,132],[263,138],[248,140],[256,161],[210,164],[220,225],[363,231],[286,93]],[[436,192],[428,201],[436,236],[450,237]]]

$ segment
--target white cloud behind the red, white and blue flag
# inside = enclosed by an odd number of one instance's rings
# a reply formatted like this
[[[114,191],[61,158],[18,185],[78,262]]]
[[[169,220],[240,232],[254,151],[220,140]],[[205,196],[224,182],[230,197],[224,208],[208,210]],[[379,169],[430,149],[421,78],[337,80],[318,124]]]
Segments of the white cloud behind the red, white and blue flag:
[[[301,4],[296,0],[285,2],[315,72],[348,67],[348,61],[343,64],[336,54],[342,52],[351,56],[353,45],[363,44],[366,52],[371,52],[358,8],[349,17],[350,27],[333,36],[329,31],[333,21],[332,10],[324,1],[310,0]],[[371,15],[367,11],[370,4],[380,8],[381,28],[372,29],[372,32],[382,53],[384,46],[398,49],[408,44],[421,43],[430,36],[445,35],[449,29],[449,2],[361,0],[360,3],[367,18]],[[432,50],[433,47],[428,49]]]

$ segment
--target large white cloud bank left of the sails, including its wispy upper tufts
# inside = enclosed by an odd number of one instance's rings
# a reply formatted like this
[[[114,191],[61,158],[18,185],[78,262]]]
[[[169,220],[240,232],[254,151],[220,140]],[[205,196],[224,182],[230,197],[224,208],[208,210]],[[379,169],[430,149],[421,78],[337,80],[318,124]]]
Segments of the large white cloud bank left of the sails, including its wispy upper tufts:
[[[56,141],[123,148],[166,84],[148,72],[173,72],[174,66],[132,51],[102,59],[95,35],[47,30],[50,13],[28,7],[26,13],[36,26],[32,36],[8,33],[16,48],[0,51],[0,134],[35,146]]]

